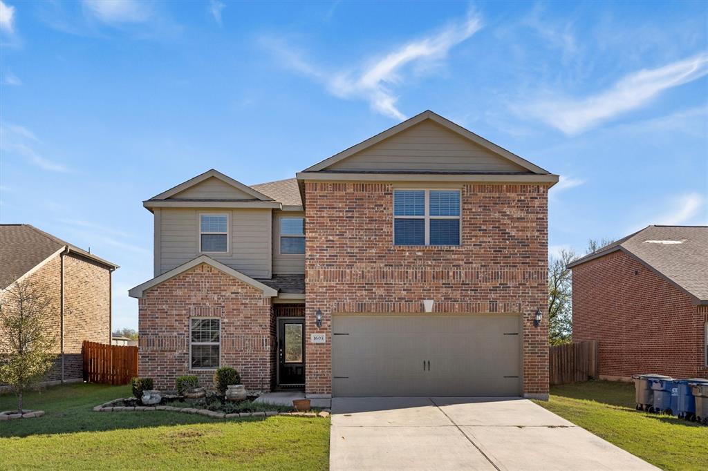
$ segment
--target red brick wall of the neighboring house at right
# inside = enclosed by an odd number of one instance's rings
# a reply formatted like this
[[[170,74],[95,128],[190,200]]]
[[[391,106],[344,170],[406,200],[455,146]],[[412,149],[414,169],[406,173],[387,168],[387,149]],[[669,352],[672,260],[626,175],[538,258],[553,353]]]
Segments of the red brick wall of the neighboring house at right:
[[[617,251],[573,267],[573,340],[600,341],[600,375],[708,377],[708,306]]]

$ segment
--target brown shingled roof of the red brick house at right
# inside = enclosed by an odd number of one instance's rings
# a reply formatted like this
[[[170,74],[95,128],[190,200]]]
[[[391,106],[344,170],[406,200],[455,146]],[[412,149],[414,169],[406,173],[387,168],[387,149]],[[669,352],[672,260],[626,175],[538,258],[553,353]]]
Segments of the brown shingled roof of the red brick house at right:
[[[622,250],[708,304],[708,226],[648,226],[576,260],[569,268]]]

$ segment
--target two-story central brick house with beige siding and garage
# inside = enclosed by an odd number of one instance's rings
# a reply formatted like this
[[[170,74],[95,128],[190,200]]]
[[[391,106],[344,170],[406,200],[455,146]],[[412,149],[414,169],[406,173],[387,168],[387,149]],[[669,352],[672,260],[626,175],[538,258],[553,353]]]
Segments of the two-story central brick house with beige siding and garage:
[[[297,173],[209,170],[144,202],[139,373],[234,366],[308,397],[548,395],[557,175],[426,111]]]

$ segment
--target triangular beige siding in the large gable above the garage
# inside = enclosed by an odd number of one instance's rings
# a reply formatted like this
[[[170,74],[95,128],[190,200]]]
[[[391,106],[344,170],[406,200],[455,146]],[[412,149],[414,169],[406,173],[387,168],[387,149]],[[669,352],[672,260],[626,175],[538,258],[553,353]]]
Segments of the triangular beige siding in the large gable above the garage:
[[[329,169],[527,173],[519,165],[429,120],[355,153]]]

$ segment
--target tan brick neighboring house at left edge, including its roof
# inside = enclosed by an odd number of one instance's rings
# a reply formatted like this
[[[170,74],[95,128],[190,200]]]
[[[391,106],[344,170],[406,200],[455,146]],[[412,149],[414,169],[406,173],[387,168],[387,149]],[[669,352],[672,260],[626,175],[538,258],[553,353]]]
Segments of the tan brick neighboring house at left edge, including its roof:
[[[0,292],[29,281],[44,285],[50,298],[58,356],[47,382],[83,380],[84,340],[110,344],[110,279],[116,268],[29,224],[0,224]]]

